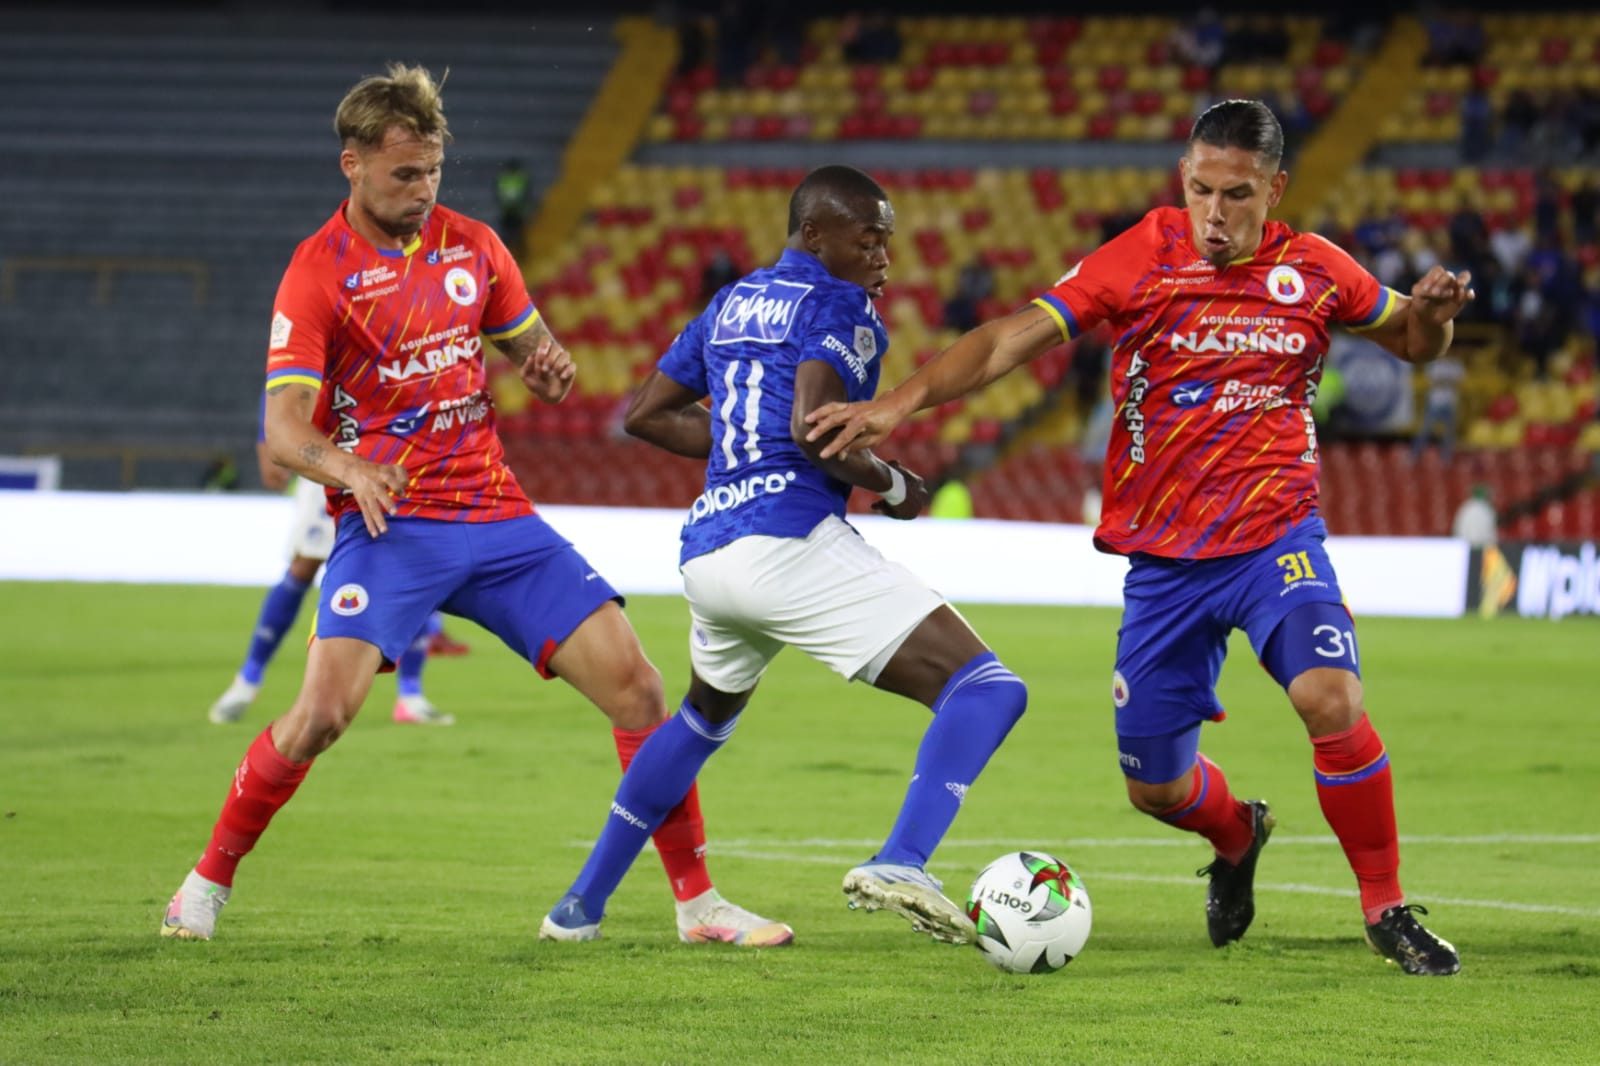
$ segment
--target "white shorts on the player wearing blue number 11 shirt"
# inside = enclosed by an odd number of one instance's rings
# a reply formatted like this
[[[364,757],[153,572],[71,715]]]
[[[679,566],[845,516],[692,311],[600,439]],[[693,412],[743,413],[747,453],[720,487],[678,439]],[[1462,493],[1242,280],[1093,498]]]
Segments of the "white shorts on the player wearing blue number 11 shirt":
[[[690,661],[722,691],[749,691],[794,645],[850,680],[877,680],[944,597],[829,515],[800,538],[746,536],[683,565]]]

